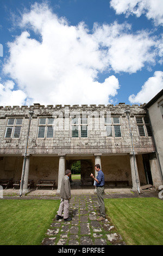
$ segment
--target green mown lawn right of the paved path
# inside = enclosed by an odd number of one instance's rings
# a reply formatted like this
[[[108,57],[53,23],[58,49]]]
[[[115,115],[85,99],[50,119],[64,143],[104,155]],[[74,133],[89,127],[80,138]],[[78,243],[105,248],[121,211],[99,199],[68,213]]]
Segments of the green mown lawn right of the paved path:
[[[127,245],[163,245],[162,200],[105,199],[105,208]]]

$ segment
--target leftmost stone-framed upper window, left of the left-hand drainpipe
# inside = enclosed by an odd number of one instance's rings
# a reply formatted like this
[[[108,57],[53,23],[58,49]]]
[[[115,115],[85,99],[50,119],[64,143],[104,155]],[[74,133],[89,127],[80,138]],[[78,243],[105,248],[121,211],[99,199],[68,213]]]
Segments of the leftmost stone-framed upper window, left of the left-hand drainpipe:
[[[21,120],[20,123],[18,123],[18,120]],[[7,118],[7,127],[5,129],[5,135],[4,138],[13,138],[18,139],[21,137],[21,128],[22,128],[23,118],[22,117],[12,117]],[[10,130],[10,133],[8,131]],[[17,130],[17,131],[16,131]],[[8,136],[7,136],[8,134]]]

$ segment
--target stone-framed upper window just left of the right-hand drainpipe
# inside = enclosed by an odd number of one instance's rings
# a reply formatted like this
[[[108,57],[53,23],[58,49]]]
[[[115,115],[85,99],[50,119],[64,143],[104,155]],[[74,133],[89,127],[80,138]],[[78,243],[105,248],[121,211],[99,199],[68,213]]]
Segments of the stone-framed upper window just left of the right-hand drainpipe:
[[[118,118],[118,122],[115,121],[115,118]],[[120,115],[112,115],[111,117],[108,118],[109,122],[107,121],[107,117],[104,117],[104,126],[105,126],[105,136],[107,138],[111,138],[111,137],[115,137],[115,138],[122,138],[122,126],[121,126],[121,117]],[[110,130],[110,136],[107,133],[107,128],[109,127]],[[120,127],[120,130],[117,131],[116,134],[116,128]],[[120,133],[119,133],[120,132]],[[121,136],[117,136],[119,133],[119,135]]]

